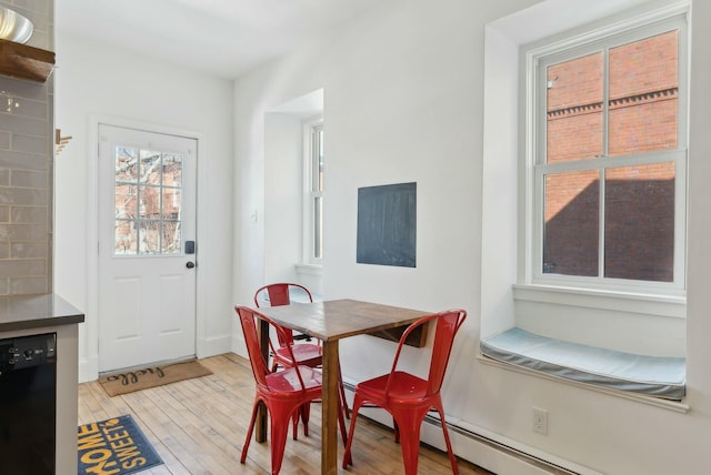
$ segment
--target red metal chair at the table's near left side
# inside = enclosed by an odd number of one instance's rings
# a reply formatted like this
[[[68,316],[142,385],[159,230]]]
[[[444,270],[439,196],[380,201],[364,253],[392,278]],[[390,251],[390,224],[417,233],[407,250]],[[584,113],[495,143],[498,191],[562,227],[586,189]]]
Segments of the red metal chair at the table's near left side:
[[[281,468],[281,462],[287,446],[287,433],[289,421],[302,406],[308,406],[312,401],[321,398],[321,373],[309,366],[296,365],[277,373],[272,372],[264,361],[259,344],[256,320],[267,322],[277,334],[283,334],[284,329],[266,315],[256,313],[246,306],[236,306],[244,334],[244,343],[252,365],[252,373],[257,383],[257,394],[252,406],[252,416],[247,431],[247,438],[242,448],[241,463],[247,461],[247,451],[252,438],[257,410],[259,404],[264,404],[269,412],[270,444],[271,444],[271,473],[276,475]],[[282,335],[286,336],[286,335]],[[289,352],[289,348],[287,350]],[[293,355],[291,355],[293,358]],[[341,437],[346,444],[346,423],[339,411],[339,426]]]

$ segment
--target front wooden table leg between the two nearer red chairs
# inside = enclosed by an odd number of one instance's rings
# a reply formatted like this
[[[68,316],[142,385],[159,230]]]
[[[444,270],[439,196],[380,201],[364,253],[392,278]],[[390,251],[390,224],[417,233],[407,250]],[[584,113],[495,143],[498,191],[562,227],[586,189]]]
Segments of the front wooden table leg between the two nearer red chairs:
[[[338,474],[338,340],[323,342],[321,474]]]

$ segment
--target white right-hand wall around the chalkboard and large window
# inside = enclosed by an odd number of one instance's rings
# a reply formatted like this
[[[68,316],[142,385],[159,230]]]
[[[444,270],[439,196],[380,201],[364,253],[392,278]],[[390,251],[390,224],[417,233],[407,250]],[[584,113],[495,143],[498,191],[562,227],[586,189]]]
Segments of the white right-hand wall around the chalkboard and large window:
[[[482,183],[484,103],[497,105],[495,98],[484,98],[484,67],[510,68],[495,61],[484,64],[484,29],[533,3],[391,0],[350,27],[240,78],[236,83],[233,299],[250,303],[251,293],[263,283],[266,255],[272,251],[264,242],[274,245],[273,236],[264,239],[263,223],[249,223],[250,210],[269,203],[264,196],[269,180],[264,175],[269,166],[264,163],[266,113],[322,87],[328,132],[324,296],[432,311],[467,309],[470,317],[443,390],[448,417],[457,425],[582,473],[707,473],[711,376],[703,374],[703,364],[711,354],[703,335],[711,334],[711,320],[703,309],[711,307],[705,291],[711,244],[704,238],[711,231],[711,219],[703,203],[711,199],[711,190],[704,186],[704,176],[711,175],[705,169],[711,165],[703,160],[710,140],[704,132],[709,118],[703,104],[710,99],[711,71],[704,48],[694,48],[692,59],[689,384],[684,401],[691,411],[651,406],[482,364],[478,358],[480,311],[512,312],[510,293],[481,306],[482,292],[498,285],[482,273],[481,255],[501,252],[499,245],[510,249],[515,242],[511,235],[497,240],[481,224],[485,218],[482,188],[491,199],[498,185]],[[704,28],[709,19],[711,6],[694,4],[694,46],[711,43],[711,31]],[[511,104],[510,98],[504,100]],[[489,143],[487,153],[497,152],[509,150],[505,144]],[[485,166],[488,173],[495,173],[491,168],[495,165]],[[515,178],[502,175],[501,180],[515,188],[515,181],[511,182]],[[418,182],[418,266],[356,264],[358,188],[408,181]],[[512,205],[515,203],[502,203],[504,210]],[[515,213],[501,213],[498,219],[514,221]],[[507,264],[511,281],[514,264]],[[487,260],[484,271],[493,266]],[[503,280],[499,273],[493,275]],[[369,337],[351,340],[341,344],[347,381],[387,371],[394,345]],[[240,347],[238,338],[234,348]],[[411,362],[420,354],[417,350],[408,353]],[[547,436],[531,429],[533,406],[549,411]],[[437,432],[431,434],[428,442],[439,444]],[[461,438],[455,451],[493,472],[522,473],[485,451],[471,449]]]

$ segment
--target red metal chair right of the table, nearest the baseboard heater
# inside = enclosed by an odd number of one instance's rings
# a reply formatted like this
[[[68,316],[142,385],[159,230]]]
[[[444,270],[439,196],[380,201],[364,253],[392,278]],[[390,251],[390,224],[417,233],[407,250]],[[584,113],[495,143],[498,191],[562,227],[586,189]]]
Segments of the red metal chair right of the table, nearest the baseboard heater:
[[[459,474],[457,458],[452,452],[452,446],[444,422],[444,408],[440,390],[444,380],[444,372],[449,363],[452,351],[452,343],[460,326],[467,319],[463,310],[449,310],[432,315],[423,316],[412,323],[400,337],[400,343],[395,352],[394,361],[390,373],[382,376],[363,381],[356,386],[353,398],[353,410],[351,426],[348,433],[348,443],[343,454],[343,468],[352,465],[351,444],[356,429],[358,411],[367,406],[382,407],[392,415],[395,431],[395,442],[402,446],[402,458],[404,462],[405,475],[418,473],[418,456],[420,452],[420,427],[427,413],[435,410],[442,422],[442,432],[447,444],[447,453],[452,464],[452,473]],[[422,380],[410,373],[397,371],[400,352],[407,336],[415,327],[425,322],[435,323],[434,343],[432,344],[432,357],[430,361],[429,377]]]

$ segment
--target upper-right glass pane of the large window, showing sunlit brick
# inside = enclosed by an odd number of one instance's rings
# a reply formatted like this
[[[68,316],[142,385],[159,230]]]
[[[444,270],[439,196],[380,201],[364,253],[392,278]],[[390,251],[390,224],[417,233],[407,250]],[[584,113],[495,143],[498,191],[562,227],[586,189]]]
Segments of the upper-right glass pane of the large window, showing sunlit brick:
[[[677,148],[678,31],[610,49],[608,155]]]

